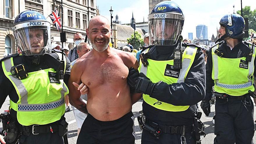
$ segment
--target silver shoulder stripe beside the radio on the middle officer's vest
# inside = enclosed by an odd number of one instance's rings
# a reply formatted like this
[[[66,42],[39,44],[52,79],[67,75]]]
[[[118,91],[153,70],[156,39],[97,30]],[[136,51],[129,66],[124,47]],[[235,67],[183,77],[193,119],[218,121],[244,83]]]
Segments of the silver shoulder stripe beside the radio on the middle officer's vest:
[[[195,50],[195,47],[186,47],[186,54],[192,56],[194,50]],[[189,69],[190,62],[191,62],[191,59],[189,59],[189,58],[184,58],[183,59],[182,69],[180,70],[180,74],[179,74],[179,78],[177,80],[177,83],[183,83],[184,82],[185,74],[186,74],[187,70]]]

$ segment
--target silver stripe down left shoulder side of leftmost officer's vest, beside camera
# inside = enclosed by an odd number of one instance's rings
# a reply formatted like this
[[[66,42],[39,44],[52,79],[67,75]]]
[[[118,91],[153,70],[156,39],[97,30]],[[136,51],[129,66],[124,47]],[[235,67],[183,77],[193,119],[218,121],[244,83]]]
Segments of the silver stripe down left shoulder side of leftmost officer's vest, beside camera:
[[[8,58],[7,60],[4,61],[4,66],[7,72],[11,71],[12,63],[11,59]],[[16,87],[18,88],[20,97],[21,97],[21,103],[22,104],[28,104],[28,91],[26,90],[24,84],[22,83],[21,80],[17,79],[13,75],[9,75],[10,79],[15,83]]]

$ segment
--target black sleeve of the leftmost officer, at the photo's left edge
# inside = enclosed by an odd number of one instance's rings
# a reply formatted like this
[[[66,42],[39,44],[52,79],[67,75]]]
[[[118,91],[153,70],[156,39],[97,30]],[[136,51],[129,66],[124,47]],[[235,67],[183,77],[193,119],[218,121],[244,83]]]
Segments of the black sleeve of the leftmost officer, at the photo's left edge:
[[[8,94],[11,92],[12,85],[11,81],[4,75],[2,62],[0,61],[0,108]]]

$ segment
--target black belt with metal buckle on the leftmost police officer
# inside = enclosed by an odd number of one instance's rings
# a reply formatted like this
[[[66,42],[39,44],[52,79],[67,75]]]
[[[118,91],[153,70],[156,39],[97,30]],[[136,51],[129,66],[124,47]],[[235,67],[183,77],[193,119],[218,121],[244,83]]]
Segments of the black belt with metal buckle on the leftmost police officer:
[[[22,126],[22,133],[26,136],[30,134],[47,134],[54,133],[59,130],[58,123],[52,123],[48,125],[30,125],[30,126]]]

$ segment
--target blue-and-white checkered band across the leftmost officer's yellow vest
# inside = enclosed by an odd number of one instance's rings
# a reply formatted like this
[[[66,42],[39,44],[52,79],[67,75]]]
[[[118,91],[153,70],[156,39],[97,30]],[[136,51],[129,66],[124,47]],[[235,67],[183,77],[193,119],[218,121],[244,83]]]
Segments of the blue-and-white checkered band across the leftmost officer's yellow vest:
[[[57,102],[50,102],[47,104],[18,104],[18,111],[46,111],[55,109],[65,102],[64,98]]]

